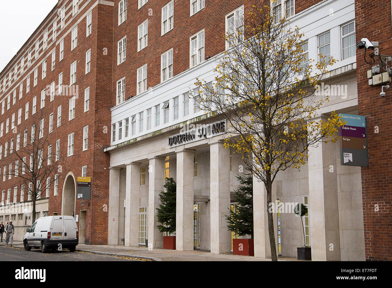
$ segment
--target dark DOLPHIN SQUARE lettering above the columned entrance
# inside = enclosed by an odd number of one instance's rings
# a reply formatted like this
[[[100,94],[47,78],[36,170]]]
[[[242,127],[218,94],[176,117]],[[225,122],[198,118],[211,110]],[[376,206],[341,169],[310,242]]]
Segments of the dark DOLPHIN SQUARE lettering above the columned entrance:
[[[182,145],[194,140],[209,138],[226,131],[226,122],[212,124],[190,124],[181,129],[180,134],[169,137],[169,146]]]

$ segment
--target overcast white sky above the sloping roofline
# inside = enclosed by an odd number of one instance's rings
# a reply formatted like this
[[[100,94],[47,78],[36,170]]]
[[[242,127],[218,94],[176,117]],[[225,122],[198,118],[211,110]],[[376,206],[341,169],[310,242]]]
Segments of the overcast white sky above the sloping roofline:
[[[0,71],[56,5],[57,0],[1,0]]]

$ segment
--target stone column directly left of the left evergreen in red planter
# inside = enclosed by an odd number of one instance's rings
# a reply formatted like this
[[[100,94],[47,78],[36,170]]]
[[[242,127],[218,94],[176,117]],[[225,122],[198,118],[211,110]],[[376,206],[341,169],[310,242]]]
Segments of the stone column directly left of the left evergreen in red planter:
[[[155,157],[149,159],[149,191],[148,191],[148,245],[152,248],[163,248],[163,234],[156,225],[156,208],[160,204],[159,194],[163,190],[164,183],[164,158]]]

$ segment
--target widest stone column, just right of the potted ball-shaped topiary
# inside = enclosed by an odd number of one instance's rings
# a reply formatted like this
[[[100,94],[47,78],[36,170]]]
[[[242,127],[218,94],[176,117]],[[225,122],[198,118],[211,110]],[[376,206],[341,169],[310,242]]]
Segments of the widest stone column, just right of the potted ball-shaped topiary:
[[[318,147],[309,147],[308,169],[309,234],[312,260],[339,261],[340,235],[335,143],[319,143]],[[333,250],[330,250],[331,244]]]

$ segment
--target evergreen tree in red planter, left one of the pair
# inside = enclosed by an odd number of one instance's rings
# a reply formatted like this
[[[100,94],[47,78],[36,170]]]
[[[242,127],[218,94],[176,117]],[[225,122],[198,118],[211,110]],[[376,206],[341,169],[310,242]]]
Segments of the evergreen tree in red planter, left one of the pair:
[[[173,178],[166,178],[163,191],[159,194],[161,204],[156,208],[156,217],[158,222],[163,225],[156,227],[160,232],[166,232],[168,235],[176,233],[176,197],[177,183]],[[176,249],[176,236],[163,236],[164,249]]]

